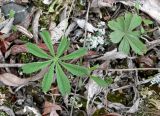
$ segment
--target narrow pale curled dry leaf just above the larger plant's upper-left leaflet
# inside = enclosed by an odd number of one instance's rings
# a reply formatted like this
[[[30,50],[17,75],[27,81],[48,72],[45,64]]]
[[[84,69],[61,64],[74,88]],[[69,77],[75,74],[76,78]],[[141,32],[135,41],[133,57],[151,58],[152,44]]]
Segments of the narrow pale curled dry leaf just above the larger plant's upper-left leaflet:
[[[24,35],[26,35],[28,38],[33,38],[33,35],[31,32],[29,32],[26,28],[20,26],[20,25],[16,25],[16,29],[23,33]]]

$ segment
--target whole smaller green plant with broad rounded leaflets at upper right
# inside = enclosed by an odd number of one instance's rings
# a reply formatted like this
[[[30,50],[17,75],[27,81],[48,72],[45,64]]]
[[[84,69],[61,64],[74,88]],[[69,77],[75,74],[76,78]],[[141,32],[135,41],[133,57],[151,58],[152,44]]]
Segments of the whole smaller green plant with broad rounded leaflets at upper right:
[[[139,39],[140,31],[135,29],[142,23],[142,18],[137,14],[126,13],[125,16],[108,22],[108,26],[113,32],[110,34],[111,41],[119,44],[119,51],[129,54],[130,48],[138,54],[143,55],[147,48]]]

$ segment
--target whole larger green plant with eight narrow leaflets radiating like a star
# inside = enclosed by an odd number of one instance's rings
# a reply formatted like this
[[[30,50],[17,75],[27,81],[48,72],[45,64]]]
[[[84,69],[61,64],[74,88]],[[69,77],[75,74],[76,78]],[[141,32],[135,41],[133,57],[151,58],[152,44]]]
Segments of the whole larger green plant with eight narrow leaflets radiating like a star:
[[[56,75],[56,80],[58,88],[62,95],[70,94],[71,85],[68,77],[66,76],[65,71],[70,72],[75,76],[87,76],[90,74],[88,68],[83,66],[78,66],[75,64],[66,63],[67,60],[72,60],[80,58],[87,53],[87,49],[80,48],[68,55],[63,56],[64,52],[69,48],[70,42],[68,38],[62,37],[61,42],[58,46],[57,53],[54,52],[53,45],[51,42],[51,37],[48,31],[43,31],[40,33],[44,43],[48,47],[50,54],[47,54],[45,51],[40,49],[37,45],[32,43],[27,43],[28,52],[42,59],[47,59],[47,61],[33,62],[28,63],[22,67],[24,73],[33,73],[39,71],[45,67],[48,68],[48,72],[45,73],[42,80],[42,90],[47,92],[53,82],[53,78]],[[54,73],[56,73],[54,75]]]

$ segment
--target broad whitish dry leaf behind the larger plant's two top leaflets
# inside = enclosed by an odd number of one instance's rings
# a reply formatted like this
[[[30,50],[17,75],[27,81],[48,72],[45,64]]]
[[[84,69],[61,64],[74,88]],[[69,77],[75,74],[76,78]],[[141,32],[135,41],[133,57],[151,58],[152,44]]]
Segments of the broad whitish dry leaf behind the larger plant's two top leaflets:
[[[57,42],[65,33],[68,26],[68,19],[64,19],[56,27],[50,28],[53,44]]]

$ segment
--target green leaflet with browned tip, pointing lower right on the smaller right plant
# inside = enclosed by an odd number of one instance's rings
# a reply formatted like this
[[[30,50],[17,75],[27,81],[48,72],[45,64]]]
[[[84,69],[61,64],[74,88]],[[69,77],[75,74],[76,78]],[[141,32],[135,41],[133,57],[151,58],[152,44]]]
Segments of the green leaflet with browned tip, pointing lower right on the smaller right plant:
[[[130,39],[128,39],[128,42],[135,53],[139,55],[143,55],[144,53],[146,53],[146,46],[138,38],[131,35],[129,35],[129,37]]]

